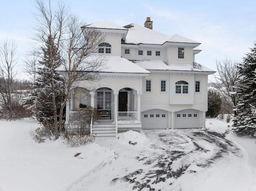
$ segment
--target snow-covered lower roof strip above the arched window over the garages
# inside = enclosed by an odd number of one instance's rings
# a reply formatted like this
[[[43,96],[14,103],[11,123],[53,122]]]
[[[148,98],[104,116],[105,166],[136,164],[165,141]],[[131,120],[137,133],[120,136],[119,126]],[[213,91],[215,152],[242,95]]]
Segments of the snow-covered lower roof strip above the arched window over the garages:
[[[199,72],[213,72],[214,70],[193,62],[193,65],[189,64],[170,64],[167,65],[162,60],[140,60],[134,61],[140,67],[146,70],[162,70],[162,71],[199,71]]]

